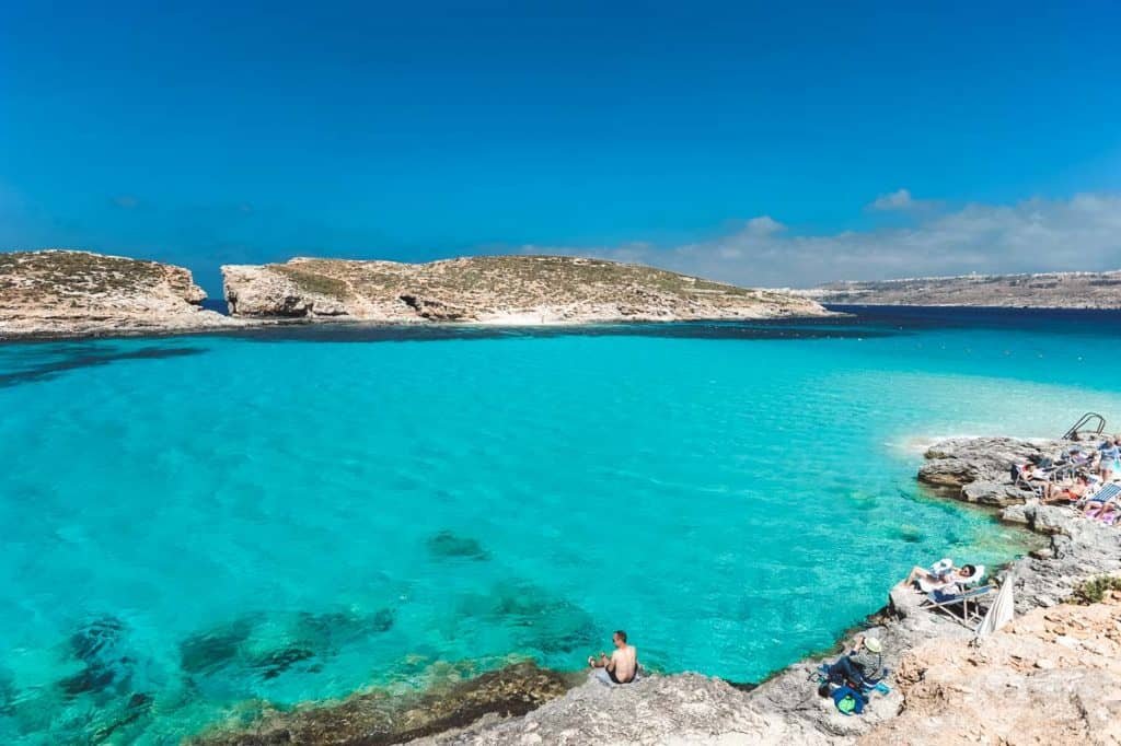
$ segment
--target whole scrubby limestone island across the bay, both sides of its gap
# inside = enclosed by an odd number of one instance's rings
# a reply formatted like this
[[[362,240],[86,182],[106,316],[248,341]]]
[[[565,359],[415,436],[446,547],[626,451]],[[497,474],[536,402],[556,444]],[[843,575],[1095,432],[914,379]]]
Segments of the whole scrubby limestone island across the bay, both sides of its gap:
[[[46,250],[0,253],[0,338],[202,332],[281,321],[473,323],[762,319],[828,315],[816,301],[638,264],[472,257],[407,264],[293,259],[222,268],[230,315],[189,270]]]

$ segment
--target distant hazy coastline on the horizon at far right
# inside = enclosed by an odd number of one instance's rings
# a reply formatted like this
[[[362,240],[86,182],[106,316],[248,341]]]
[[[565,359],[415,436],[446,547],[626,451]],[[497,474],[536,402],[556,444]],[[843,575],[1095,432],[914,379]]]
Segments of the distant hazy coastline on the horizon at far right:
[[[1121,308],[1121,271],[830,282],[798,292],[823,304],[869,306]]]

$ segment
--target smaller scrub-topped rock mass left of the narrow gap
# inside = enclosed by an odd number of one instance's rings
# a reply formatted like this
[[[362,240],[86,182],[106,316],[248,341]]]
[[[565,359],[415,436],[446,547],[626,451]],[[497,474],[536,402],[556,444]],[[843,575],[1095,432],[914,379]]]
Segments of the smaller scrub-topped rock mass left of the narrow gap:
[[[0,338],[180,332],[237,324],[203,310],[182,267],[86,251],[0,253]]]

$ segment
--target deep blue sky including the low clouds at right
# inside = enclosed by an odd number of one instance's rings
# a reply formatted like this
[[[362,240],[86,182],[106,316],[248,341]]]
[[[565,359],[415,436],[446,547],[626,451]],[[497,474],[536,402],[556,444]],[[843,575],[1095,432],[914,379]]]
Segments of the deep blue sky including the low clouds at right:
[[[1117,3],[408,4],[2,2],[0,250],[1121,267]]]

